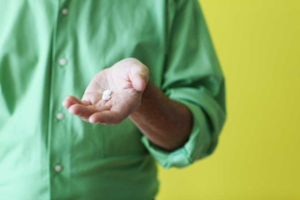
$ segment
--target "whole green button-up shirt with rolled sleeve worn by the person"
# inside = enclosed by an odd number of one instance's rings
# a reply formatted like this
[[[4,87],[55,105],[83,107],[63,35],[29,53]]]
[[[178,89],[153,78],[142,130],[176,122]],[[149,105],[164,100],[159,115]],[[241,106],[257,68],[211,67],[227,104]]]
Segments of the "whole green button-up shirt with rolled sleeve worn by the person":
[[[156,161],[182,168],[214,150],[224,78],[196,0],[0,2],[0,198],[153,199]],[[127,118],[87,123],[62,102],[123,58],[192,112],[185,145],[151,143]]]

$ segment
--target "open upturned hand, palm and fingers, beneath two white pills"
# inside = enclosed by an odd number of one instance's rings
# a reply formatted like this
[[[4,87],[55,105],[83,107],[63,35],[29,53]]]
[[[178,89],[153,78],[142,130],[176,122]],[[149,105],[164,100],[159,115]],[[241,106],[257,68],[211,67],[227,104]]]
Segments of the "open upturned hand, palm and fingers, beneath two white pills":
[[[148,79],[145,65],[137,59],[126,58],[97,73],[82,100],[68,96],[63,106],[87,122],[118,124],[138,108]],[[102,99],[104,90],[112,91],[108,101]]]

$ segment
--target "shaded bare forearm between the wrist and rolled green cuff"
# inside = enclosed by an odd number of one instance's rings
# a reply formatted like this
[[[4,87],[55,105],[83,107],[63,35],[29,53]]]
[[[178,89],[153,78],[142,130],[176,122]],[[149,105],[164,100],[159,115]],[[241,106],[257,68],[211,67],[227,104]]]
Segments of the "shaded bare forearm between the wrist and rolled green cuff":
[[[151,142],[170,151],[182,147],[192,129],[189,109],[169,99],[150,81],[138,110],[129,118]]]

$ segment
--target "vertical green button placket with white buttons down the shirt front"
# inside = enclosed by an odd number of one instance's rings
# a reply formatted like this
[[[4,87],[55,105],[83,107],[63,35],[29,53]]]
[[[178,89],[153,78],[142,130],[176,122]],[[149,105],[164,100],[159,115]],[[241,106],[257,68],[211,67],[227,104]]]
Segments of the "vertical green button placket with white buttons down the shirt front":
[[[63,87],[66,68],[70,67],[68,52],[68,1],[57,1],[53,29],[50,120],[48,130],[49,187],[50,199],[68,197],[70,186],[70,135],[66,133],[68,110],[63,108]]]

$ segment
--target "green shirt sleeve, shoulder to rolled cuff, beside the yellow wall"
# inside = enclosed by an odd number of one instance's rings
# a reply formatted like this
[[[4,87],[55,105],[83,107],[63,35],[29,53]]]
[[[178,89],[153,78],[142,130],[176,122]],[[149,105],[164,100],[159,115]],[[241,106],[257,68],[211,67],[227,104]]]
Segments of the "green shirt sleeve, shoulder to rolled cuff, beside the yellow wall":
[[[224,77],[197,0],[175,1],[168,22],[161,89],[191,111],[193,125],[184,146],[171,152],[142,136],[149,153],[166,169],[183,168],[210,155],[226,118]]]

